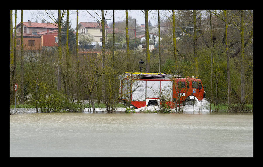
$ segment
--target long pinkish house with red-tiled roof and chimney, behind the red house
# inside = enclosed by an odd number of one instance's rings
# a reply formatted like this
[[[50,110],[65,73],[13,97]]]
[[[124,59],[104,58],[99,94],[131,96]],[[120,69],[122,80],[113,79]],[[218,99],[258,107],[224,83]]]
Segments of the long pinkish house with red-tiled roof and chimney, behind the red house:
[[[39,32],[43,31],[53,31],[58,30],[58,24],[51,24],[49,22],[46,23],[32,23],[31,20],[28,20],[28,22],[23,22],[24,26],[24,32],[28,34],[37,35]],[[16,26],[16,32],[21,32],[21,22],[17,24]]]

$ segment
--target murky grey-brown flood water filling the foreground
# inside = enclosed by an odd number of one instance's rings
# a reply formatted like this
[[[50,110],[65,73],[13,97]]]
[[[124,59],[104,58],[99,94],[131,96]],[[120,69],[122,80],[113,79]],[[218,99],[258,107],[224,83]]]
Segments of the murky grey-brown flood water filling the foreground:
[[[253,157],[253,115],[10,115],[10,157]]]

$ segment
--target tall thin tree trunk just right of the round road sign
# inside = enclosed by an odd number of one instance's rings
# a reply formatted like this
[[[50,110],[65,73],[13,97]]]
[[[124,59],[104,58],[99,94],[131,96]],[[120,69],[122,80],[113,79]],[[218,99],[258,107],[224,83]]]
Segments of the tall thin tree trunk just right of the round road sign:
[[[24,21],[23,10],[21,10],[21,104],[24,104]]]

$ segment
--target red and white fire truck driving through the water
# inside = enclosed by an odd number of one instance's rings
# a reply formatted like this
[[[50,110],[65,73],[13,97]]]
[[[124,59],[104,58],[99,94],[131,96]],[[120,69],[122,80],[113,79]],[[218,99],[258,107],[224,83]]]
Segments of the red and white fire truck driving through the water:
[[[124,105],[157,106],[166,103],[171,108],[205,98],[205,86],[196,77],[164,73],[125,72],[120,79],[120,102]]]

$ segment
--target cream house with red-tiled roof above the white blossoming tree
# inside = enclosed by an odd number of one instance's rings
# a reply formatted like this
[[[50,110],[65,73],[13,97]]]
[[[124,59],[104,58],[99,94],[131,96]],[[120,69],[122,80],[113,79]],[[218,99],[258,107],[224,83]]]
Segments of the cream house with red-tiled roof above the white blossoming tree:
[[[107,22],[105,22],[105,40],[107,40],[107,33],[108,29]],[[94,42],[102,42],[102,26],[101,23],[98,22],[79,22],[79,33],[90,33],[93,38]]]

